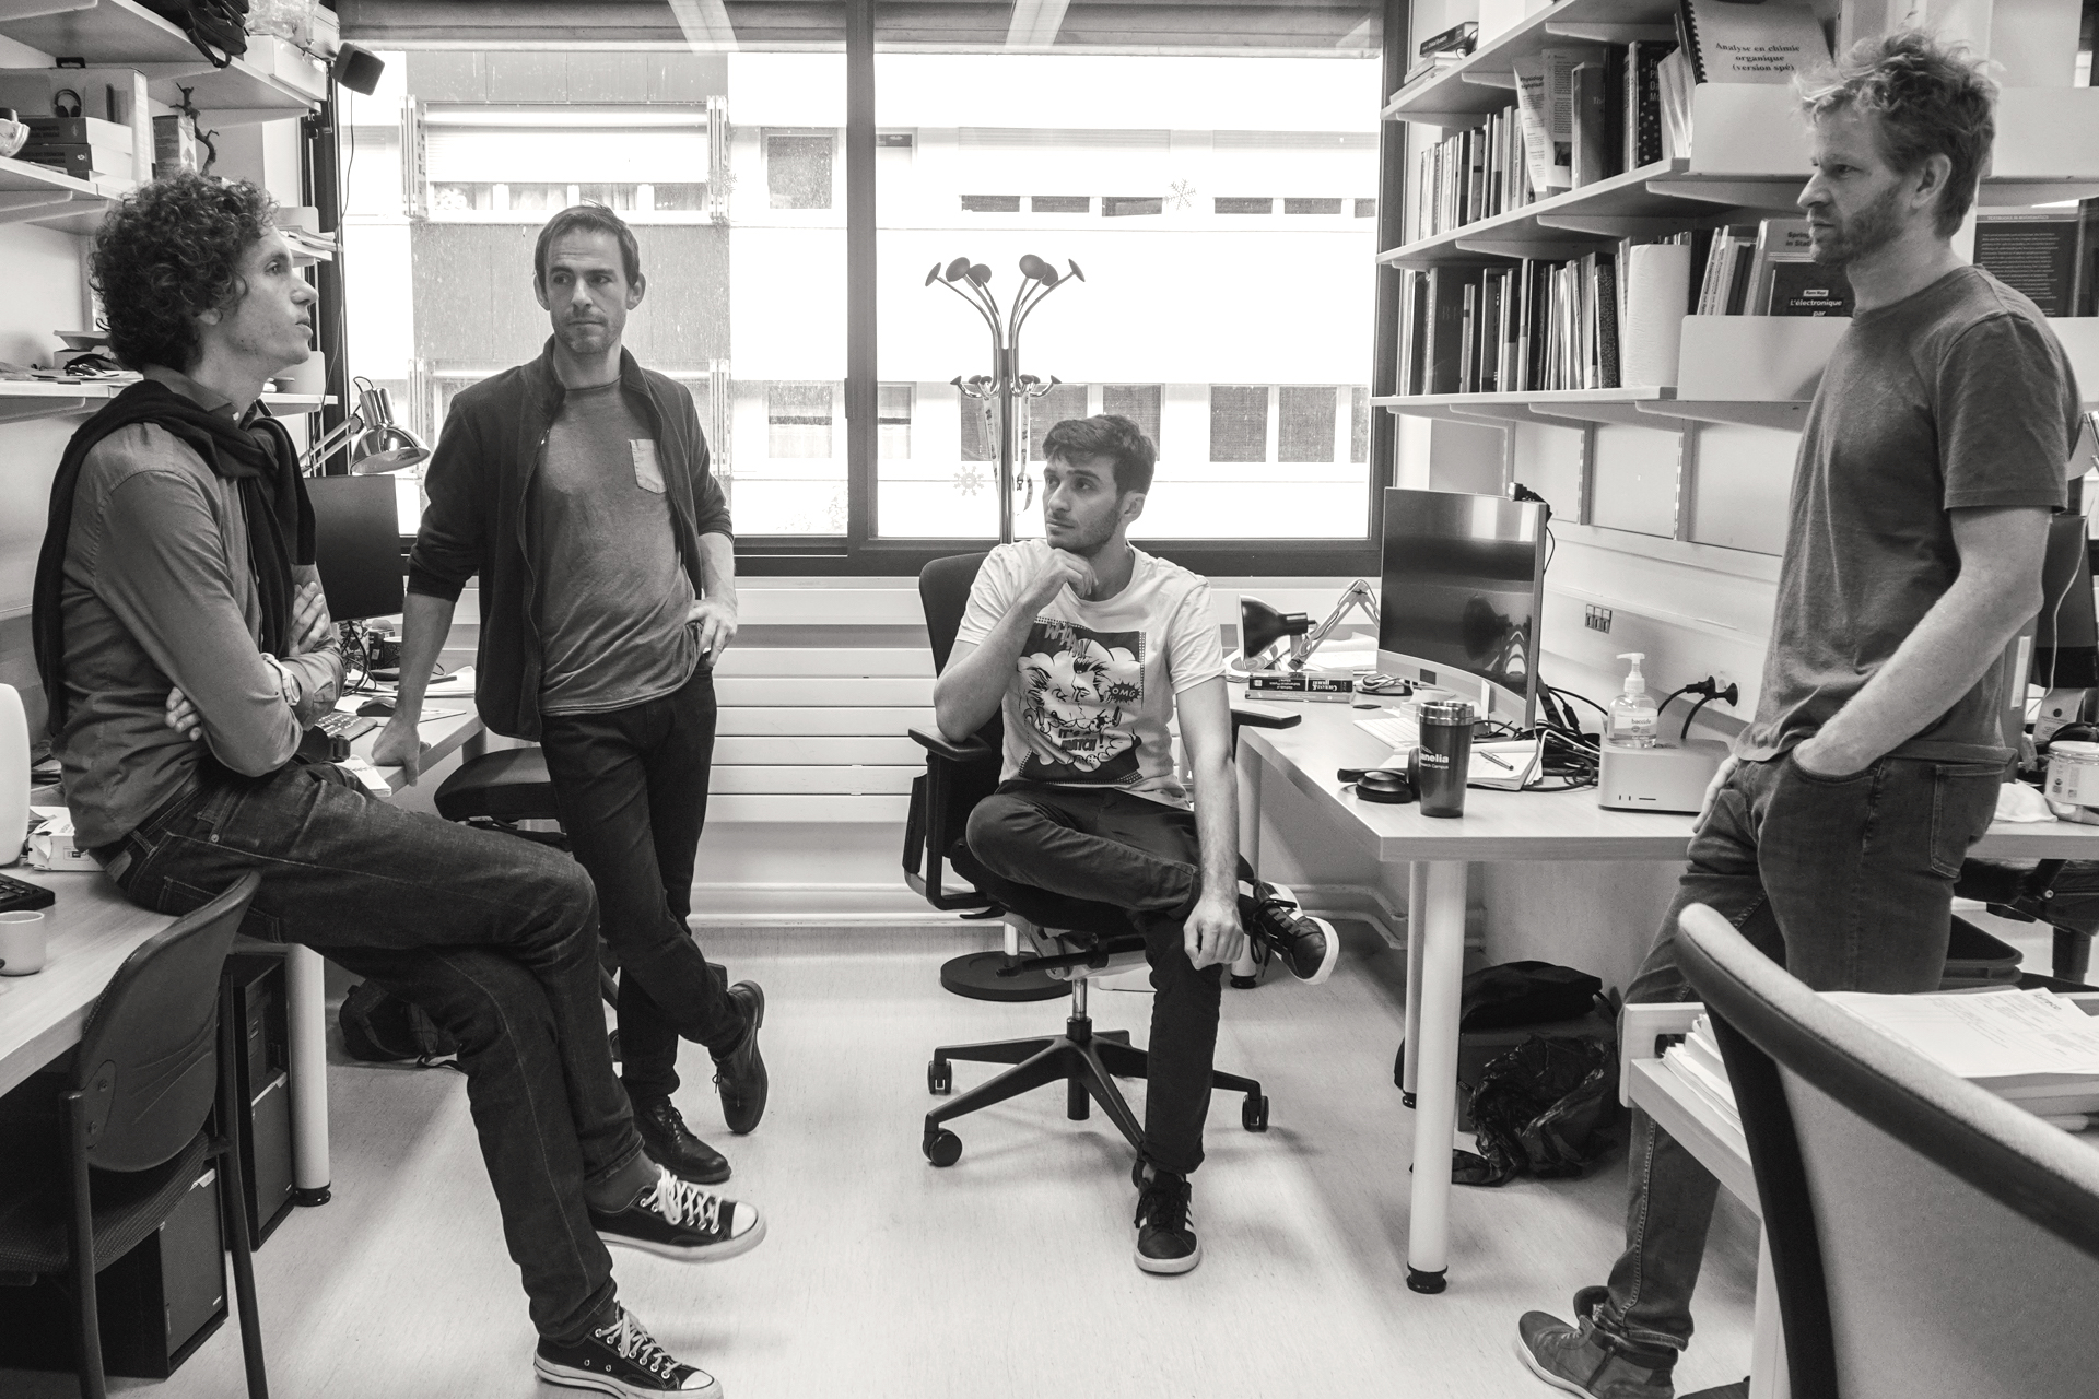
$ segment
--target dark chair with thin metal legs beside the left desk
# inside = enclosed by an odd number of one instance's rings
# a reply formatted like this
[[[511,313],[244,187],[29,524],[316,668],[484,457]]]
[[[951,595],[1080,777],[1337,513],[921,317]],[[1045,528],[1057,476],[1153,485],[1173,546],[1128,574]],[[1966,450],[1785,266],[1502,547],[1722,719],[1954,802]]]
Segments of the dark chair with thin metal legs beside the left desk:
[[[88,1011],[71,1061],[40,1076],[55,1080],[52,1097],[23,1107],[55,1126],[48,1149],[15,1135],[0,1152],[0,1271],[69,1279],[86,1399],[109,1393],[97,1273],[168,1221],[206,1162],[218,1168],[248,1395],[269,1399],[241,1183],[233,990],[225,980],[227,950],[260,883],[260,875],[241,875],[124,959]]]

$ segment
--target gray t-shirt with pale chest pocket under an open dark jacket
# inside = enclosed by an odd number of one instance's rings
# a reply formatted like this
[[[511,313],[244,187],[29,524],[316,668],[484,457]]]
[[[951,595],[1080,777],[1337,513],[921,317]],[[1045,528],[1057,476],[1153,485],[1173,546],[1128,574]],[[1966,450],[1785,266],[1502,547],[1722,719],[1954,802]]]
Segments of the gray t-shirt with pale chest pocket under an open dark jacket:
[[[619,384],[571,388],[533,478],[533,623],[542,713],[670,694],[699,665],[655,436]]]

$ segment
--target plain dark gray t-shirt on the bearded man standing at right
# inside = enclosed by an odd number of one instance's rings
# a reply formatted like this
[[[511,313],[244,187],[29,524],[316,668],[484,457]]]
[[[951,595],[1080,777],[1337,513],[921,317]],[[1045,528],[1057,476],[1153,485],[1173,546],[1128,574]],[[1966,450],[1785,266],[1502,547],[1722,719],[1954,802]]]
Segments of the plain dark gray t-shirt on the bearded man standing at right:
[[[1851,321],[1807,409],[1746,759],[1820,730],[1960,573],[1950,510],[2065,501],[2078,386],[2047,319],[1965,266]],[[1998,661],[1897,757],[2002,761]]]

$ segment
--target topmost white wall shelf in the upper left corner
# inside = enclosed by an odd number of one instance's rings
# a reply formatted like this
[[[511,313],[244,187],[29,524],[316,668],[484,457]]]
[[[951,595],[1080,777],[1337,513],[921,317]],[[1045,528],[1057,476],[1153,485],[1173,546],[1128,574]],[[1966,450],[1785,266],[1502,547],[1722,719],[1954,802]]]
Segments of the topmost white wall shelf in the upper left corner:
[[[325,69],[275,36],[250,36],[248,55],[216,69],[189,36],[134,0],[36,13],[67,2],[0,0],[0,36],[88,67],[139,69],[153,101],[170,107],[183,101],[178,88],[189,88],[206,126],[304,115],[327,92]]]

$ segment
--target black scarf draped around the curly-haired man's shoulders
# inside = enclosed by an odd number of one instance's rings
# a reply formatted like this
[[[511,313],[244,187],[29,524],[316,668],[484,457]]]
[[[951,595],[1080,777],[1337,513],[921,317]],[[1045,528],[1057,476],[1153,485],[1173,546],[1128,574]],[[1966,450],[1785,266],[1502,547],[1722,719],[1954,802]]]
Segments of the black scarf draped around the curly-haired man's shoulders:
[[[73,529],[73,491],[80,468],[111,432],[134,424],[160,424],[191,447],[218,476],[239,482],[241,518],[248,520],[248,566],[254,571],[262,604],[262,650],[283,657],[292,644],[292,564],[313,562],[313,505],[298,474],[298,451],[290,434],[267,409],[246,424],[214,413],[166,384],[141,380],[111,399],[80,426],[65,447],[59,474],[50,482],[50,522],[36,556],[31,633],[36,669],[50,705],[50,734],[65,724],[65,619],[59,596],[65,587],[65,545]]]

